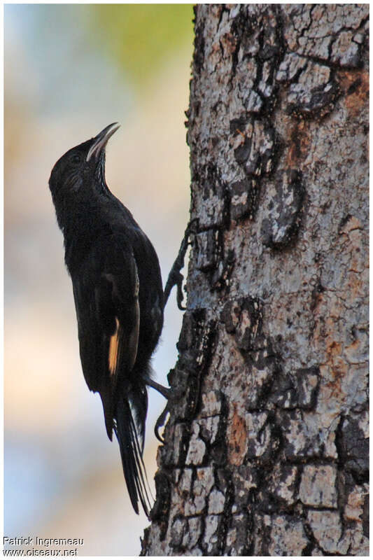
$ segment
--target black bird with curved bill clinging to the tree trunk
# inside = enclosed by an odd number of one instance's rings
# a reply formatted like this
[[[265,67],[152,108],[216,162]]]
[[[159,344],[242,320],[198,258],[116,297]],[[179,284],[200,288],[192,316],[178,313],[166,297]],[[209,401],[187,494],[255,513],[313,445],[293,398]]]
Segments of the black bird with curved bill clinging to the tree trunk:
[[[73,283],[80,360],[98,391],[106,432],[118,438],[129,497],[148,515],[143,465],[148,394],[168,390],[150,378],[163,325],[160,264],[130,211],[108,189],[105,149],[118,123],[72,148],[52,169],[49,187]]]

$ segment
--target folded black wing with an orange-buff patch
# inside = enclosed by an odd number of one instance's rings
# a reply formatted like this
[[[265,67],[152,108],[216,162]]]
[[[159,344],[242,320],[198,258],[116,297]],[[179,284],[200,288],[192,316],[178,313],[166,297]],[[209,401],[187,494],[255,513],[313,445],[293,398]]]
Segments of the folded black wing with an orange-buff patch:
[[[97,240],[72,277],[85,381],[99,391],[111,438],[115,392],[127,391],[139,342],[139,277],[132,251],[115,237]]]

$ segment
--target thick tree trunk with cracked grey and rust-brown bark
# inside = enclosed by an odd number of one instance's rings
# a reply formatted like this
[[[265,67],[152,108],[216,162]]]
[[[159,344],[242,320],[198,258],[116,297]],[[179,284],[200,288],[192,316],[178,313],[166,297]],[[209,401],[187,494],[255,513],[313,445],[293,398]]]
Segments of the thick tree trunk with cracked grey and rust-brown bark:
[[[367,5],[199,5],[143,555],[367,555]]]

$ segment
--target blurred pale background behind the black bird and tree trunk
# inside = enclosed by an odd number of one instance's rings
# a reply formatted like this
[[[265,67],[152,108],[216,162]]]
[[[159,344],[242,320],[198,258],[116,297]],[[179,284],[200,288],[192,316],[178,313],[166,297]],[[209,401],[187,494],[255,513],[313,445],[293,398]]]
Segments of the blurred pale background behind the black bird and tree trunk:
[[[136,555],[117,442],[80,367],[71,281],[48,189],[55,161],[109,123],[108,186],[153,241],[163,281],[190,202],[185,142],[192,6],[5,6],[4,534],[84,538],[84,555]],[[153,360],[167,384],[182,314],[171,295]],[[145,463],[153,488],[152,389]]]

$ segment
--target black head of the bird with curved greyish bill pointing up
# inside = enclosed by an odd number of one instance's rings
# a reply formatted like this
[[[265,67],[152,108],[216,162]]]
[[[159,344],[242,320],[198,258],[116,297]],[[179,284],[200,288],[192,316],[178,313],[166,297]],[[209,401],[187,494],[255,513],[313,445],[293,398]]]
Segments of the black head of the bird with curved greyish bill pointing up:
[[[120,125],[112,123],[97,136],[71,148],[55,163],[49,179],[53,201],[78,194],[84,187],[105,189],[105,148]]]

